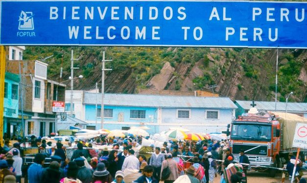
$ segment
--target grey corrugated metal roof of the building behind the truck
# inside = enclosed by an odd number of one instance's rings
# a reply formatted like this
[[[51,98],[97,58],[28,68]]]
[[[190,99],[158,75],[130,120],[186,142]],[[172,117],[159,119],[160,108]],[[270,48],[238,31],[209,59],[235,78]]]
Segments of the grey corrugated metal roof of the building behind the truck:
[[[252,101],[236,101],[243,109],[250,109]],[[255,101],[258,110],[275,111],[275,102]],[[285,111],[285,102],[276,103],[277,111]],[[288,102],[287,111],[289,112],[307,112],[307,103]]]

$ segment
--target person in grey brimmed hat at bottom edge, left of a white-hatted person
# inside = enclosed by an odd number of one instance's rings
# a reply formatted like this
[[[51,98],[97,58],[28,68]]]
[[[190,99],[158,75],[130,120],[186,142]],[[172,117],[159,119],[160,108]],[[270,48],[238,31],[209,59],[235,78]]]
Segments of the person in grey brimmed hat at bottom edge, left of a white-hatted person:
[[[111,183],[112,176],[106,169],[104,163],[98,163],[96,171],[93,173],[93,183]]]

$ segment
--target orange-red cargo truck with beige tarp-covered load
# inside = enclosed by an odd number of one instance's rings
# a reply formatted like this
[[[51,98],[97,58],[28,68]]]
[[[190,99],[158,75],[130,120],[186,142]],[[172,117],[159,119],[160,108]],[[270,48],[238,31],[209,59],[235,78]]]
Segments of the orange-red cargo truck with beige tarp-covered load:
[[[276,169],[270,167],[282,168],[289,152],[297,152],[297,148],[292,147],[297,122],[307,124],[307,119],[291,113],[258,112],[255,107],[251,108],[231,123],[230,149],[235,162],[239,162],[239,152],[243,150],[253,169],[269,171],[274,177]],[[302,160],[306,151],[301,149]]]

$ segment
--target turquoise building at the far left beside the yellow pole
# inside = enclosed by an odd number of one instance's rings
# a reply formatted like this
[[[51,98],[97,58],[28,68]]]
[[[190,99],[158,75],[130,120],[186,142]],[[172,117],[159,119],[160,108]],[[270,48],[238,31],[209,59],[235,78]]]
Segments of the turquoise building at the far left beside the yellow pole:
[[[7,137],[18,136],[22,129],[18,119],[19,105],[19,75],[5,72],[4,78],[4,111],[3,133]]]

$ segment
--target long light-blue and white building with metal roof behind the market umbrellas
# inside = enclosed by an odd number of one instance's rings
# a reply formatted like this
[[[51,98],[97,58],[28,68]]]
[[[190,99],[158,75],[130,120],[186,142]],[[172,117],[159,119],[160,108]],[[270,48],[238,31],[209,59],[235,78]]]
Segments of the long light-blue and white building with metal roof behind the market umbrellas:
[[[84,113],[82,120],[88,123],[88,127],[94,128],[96,124],[97,129],[101,127],[100,99],[101,93],[83,94],[80,112]],[[184,127],[192,132],[221,132],[235,117],[236,108],[235,103],[226,97],[105,94],[103,127],[125,130],[145,125],[151,134],[170,127]]]

